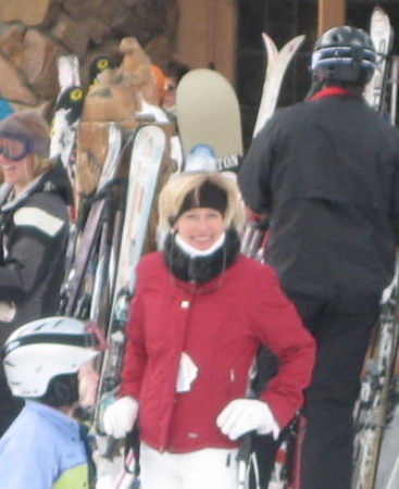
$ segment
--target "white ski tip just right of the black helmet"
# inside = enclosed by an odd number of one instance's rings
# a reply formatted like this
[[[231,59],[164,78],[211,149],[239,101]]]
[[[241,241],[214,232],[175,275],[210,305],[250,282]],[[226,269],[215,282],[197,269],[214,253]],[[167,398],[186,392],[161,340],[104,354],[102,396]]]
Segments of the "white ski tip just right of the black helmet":
[[[364,89],[364,98],[377,111],[385,111],[388,59],[394,42],[394,29],[389,16],[381,8],[375,7],[370,21],[370,37],[376,50],[376,68],[372,79]]]

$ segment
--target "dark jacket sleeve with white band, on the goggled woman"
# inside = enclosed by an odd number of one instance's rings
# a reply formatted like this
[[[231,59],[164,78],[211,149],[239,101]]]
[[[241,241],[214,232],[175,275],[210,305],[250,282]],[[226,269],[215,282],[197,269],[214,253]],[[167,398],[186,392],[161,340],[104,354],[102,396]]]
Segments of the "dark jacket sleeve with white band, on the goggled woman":
[[[67,220],[38,206],[23,206],[11,218],[8,254],[0,266],[0,301],[29,297],[54,266],[52,256],[67,233]]]

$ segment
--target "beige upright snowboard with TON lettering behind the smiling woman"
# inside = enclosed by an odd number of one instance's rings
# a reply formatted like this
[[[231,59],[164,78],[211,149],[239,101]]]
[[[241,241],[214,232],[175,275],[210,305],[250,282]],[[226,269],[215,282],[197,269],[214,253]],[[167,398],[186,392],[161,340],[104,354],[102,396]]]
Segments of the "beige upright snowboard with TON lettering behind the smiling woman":
[[[223,159],[229,161],[230,167],[237,163],[237,155],[242,154],[240,110],[237,95],[223,75],[209,68],[186,73],[176,90],[176,116],[185,160],[183,171],[189,170],[186,163],[194,153],[196,170],[200,170],[199,148],[208,148],[203,154],[214,156],[215,170],[217,164],[223,166]]]

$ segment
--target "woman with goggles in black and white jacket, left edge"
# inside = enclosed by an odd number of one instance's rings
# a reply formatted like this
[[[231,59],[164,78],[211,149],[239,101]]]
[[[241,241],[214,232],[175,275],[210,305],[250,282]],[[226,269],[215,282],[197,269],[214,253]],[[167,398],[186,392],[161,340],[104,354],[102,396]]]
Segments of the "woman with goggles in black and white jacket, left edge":
[[[50,128],[35,111],[0,122],[0,347],[22,324],[53,315],[64,276],[72,188],[48,158]],[[21,409],[0,372],[0,436]]]

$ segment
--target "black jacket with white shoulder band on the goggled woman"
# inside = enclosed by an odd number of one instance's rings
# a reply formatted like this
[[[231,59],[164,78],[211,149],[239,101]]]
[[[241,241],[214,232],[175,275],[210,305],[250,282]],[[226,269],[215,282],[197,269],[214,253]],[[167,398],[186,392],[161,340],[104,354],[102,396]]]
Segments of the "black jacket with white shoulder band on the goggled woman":
[[[22,324],[57,313],[72,189],[59,161],[12,198],[0,187],[0,346]]]

